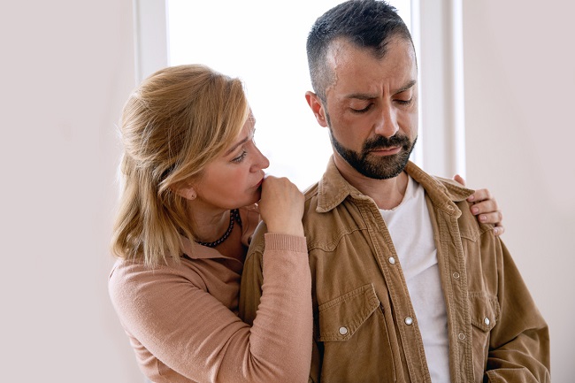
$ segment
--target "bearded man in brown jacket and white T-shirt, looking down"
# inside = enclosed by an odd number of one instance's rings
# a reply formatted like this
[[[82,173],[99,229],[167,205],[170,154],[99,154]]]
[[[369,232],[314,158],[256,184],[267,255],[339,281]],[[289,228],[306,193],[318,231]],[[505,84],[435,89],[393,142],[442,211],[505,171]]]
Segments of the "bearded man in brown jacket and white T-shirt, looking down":
[[[395,9],[349,1],[308,37],[334,156],[306,191],[313,382],[548,382],[548,326],[472,191],[409,162],[418,68]],[[265,226],[244,266],[241,315],[258,304]],[[286,303],[289,304],[289,303]]]

